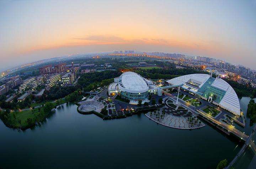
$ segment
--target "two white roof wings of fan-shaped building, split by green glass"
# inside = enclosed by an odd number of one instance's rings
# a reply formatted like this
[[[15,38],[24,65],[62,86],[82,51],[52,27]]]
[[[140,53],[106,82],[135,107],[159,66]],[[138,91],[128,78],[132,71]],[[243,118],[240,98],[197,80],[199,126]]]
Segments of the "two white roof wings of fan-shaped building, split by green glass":
[[[181,83],[187,83],[192,80],[201,83],[198,86],[198,88],[201,88],[202,85],[209,79],[209,77],[210,75],[208,74],[188,74],[167,80],[167,82],[172,85],[178,85]],[[235,90],[225,80],[221,78],[216,78],[211,86],[226,91],[224,97],[219,102],[219,105],[231,112],[234,112],[235,114],[240,115],[240,103]],[[184,85],[182,86],[182,88],[187,89]]]

